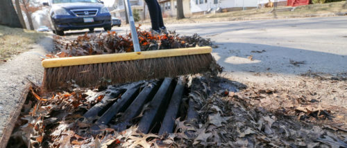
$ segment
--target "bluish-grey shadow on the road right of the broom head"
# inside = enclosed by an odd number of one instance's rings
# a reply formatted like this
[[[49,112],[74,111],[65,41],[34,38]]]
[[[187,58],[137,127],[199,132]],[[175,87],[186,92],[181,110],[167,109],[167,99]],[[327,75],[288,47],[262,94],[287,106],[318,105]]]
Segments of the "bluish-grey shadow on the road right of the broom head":
[[[347,56],[299,48],[217,42],[213,55],[217,62],[232,72],[271,72],[300,74],[307,71],[344,73]],[[303,62],[303,64],[295,64]]]

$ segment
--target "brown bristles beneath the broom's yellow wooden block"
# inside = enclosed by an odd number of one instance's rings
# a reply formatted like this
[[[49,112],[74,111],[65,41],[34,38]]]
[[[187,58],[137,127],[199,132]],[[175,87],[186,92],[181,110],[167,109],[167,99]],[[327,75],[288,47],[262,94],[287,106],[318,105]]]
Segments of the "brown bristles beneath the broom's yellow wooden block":
[[[119,84],[178,75],[205,73],[217,66],[210,53],[139,59],[124,62],[64,66],[44,69],[44,89],[65,88],[68,82],[81,87]]]

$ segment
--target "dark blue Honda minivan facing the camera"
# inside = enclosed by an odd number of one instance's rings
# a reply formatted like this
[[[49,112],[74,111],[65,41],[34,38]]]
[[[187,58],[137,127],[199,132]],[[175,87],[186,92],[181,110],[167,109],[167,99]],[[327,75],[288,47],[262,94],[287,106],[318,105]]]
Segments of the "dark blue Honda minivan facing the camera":
[[[51,0],[43,3],[50,6],[49,20],[56,35],[64,35],[65,30],[89,28],[112,29],[111,14],[102,1],[98,0]]]

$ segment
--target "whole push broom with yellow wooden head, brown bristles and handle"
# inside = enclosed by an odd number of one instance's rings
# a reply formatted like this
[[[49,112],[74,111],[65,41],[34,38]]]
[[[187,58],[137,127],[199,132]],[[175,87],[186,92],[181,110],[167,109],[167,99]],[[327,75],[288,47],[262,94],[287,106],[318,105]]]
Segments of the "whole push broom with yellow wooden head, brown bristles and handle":
[[[118,84],[210,71],[216,66],[210,46],[141,51],[129,0],[125,1],[135,52],[44,59],[46,90]]]

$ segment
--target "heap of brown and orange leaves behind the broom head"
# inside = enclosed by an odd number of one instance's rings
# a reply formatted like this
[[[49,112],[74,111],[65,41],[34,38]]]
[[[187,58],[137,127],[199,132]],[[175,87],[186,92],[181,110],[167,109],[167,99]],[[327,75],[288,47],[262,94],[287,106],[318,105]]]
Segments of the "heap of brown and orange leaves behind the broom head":
[[[195,46],[212,46],[210,39],[204,39],[197,34],[192,36],[180,36],[176,31],[169,34],[152,35],[146,30],[137,27],[139,44],[142,51],[161,50],[171,48],[189,48]],[[70,57],[81,55],[101,55],[109,53],[133,52],[133,41],[131,34],[118,35],[115,31],[108,31],[107,34],[92,34],[78,36],[77,39],[70,40],[65,37],[54,36],[58,53],[46,55],[46,57]]]

